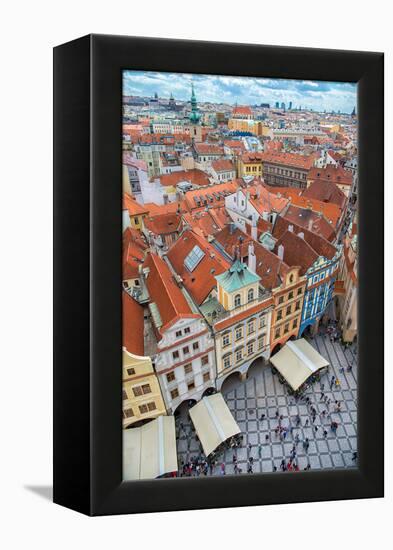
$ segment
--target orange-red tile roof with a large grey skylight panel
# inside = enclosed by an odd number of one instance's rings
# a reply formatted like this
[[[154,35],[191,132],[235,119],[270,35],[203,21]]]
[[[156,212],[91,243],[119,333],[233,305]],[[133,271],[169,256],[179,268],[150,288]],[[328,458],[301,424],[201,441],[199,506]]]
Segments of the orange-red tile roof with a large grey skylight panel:
[[[194,246],[204,252],[204,257],[190,272],[184,265],[184,260]],[[176,273],[183,279],[183,284],[197,304],[202,304],[216,287],[215,275],[229,269],[230,264],[225,258],[195,231],[185,231],[172,245],[167,254]]]

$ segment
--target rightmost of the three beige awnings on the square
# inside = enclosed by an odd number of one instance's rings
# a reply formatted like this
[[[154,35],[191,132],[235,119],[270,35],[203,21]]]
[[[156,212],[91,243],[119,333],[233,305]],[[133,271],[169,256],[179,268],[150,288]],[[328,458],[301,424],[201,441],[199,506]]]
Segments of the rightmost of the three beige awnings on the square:
[[[294,391],[312,374],[329,366],[329,362],[304,338],[287,342],[279,352],[270,357],[270,362]]]

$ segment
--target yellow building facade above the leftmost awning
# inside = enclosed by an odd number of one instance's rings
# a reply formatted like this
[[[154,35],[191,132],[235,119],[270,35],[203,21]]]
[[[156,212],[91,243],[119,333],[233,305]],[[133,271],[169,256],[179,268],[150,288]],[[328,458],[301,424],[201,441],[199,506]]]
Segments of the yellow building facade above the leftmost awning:
[[[150,357],[123,347],[123,428],[166,414],[160,384]]]

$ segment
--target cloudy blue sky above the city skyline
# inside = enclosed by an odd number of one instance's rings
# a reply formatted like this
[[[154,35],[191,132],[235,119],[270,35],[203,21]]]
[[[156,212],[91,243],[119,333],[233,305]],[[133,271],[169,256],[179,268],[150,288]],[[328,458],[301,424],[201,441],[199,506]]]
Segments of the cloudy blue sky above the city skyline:
[[[271,78],[191,75],[145,71],[124,71],[124,95],[151,97],[157,92],[161,98],[188,100],[194,82],[197,100],[212,103],[248,104],[282,101],[293,107],[302,106],[318,111],[351,113],[356,105],[356,84],[312,80],[284,80]]]

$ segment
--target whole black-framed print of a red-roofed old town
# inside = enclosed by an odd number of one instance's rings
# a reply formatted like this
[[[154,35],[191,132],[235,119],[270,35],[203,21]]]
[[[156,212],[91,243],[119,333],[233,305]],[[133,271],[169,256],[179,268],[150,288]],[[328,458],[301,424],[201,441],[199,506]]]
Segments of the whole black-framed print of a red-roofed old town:
[[[383,55],[54,50],[54,501],[383,496]]]

